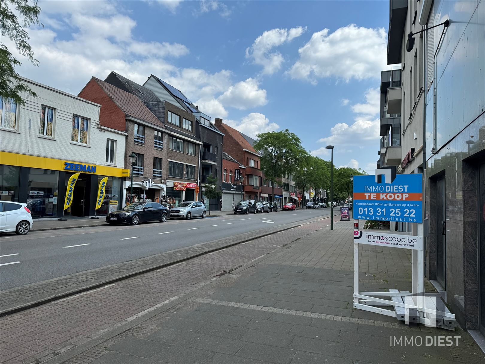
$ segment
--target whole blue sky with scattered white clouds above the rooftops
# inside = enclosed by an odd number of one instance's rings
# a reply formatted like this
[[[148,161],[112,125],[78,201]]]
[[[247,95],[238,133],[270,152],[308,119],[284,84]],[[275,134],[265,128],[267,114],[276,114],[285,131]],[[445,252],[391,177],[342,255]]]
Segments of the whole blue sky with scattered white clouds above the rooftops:
[[[21,75],[77,94],[115,70],[155,74],[251,136],[289,129],[314,155],[372,173],[388,1],[39,1],[39,67]],[[13,47],[10,47],[13,49]]]

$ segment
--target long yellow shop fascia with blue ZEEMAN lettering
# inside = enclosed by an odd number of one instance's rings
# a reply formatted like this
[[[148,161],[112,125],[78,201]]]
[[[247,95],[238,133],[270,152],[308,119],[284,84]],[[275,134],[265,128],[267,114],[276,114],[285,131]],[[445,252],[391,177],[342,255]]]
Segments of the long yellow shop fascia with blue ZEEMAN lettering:
[[[33,155],[2,151],[0,151],[0,165],[16,165],[20,167],[50,169],[56,171],[66,170],[112,177],[129,177],[129,169],[111,167],[108,165],[91,165],[83,162],[36,157]]]

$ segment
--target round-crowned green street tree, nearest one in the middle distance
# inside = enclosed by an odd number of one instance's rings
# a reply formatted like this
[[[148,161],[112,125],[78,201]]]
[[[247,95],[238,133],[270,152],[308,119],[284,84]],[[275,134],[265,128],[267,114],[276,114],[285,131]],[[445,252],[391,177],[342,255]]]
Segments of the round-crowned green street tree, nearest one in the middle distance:
[[[264,132],[257,135],[254,149],[261,152],[261,170],[272,181],[271,194],[275,196],[275,182],[281,176],[291,174],[306,154],[301,140],[288,129],[279,132]]]

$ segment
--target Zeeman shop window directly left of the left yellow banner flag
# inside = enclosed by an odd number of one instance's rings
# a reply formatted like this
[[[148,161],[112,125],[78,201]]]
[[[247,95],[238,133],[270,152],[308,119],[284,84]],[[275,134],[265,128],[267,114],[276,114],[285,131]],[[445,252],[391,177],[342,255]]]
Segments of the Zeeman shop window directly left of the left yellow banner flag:
[[[27,208],[32,217],[57,216],[59,172],[49,169],[31,168],[27,189]]]

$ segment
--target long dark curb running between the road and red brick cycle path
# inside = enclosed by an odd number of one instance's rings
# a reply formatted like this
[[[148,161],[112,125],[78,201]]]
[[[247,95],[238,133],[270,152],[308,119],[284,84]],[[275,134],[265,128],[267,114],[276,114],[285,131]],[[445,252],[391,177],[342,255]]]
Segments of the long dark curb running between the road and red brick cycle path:
[[[336,216],[336,215],[334,215],[334,216]],[[318,218],[311,219],[310,222],[323,220],[323,219],[326,219],[326,218],[329,218],[329,217],[330,217],[330,215],[325,216],[325,217],[319,216]],[[308,220],[302,220],[302,221],[308,221]],[[48,296],[48,297],[45,297],[45,298],[40,298],[40,299],[31,301],[31,302],[28,302],[28,303],[20,304],[18,306],[13,307],[13,308],[0,310],[0,317],[8,315],[8,314],[14,314],[14,313],[20,312],[20,311],[25,311],[25,310],[28,310],[30,308],[37,307],[37,306],[40,306],[44,303],[49,303],[49,302],[52,302],[52,301],[55,301],[55,300],[58,300],[58,299],[61,299],[61,298],[66,298],[66,297],[73,296],[73,295],[76,295],[76,294],[79,294],[79,293],[91,291],[93,289],[105,286],[105,285],[110,284],[110,283],[114,283],[114,282],[117,282],[117,281],[123,281],[123,280],[126,280],[128,278],[135,277],[135,276],[138,276],[140,274],[147,273],[147,272],[151,272],[151,271],[154,271],[154,270],[157,270],[157,269],[169,266],[169,265],[175,265],[175,264],[178,264],[178,263],[181,263],[181,262],[185,262],[187,260],[199,257],[201,255],[211,253],[213,251],[229,248],[229,247],[232,247],[232,246],[235,246],[235,245],[238,245],[238,244],[242,244],[242,243],[252,241],[256,238],[259,239],[259,238],[262,238],[262,237],[265,237],[265,236],[268,236],[268,235],[273,235],[273,234],[278,233],[278,232],[284,232],[284,231],[287,231],[287,230],[290,230],[290,229],[293,229],[293,228],[296,228],[296,227],[299,227],[299,226],[302,226],[302,225],[305,225],[305,224],[307,224],[307,223],[300,223],[299,222],[296,225],[288,226],[288,227],[283,228],[283,229],[277,229],[273,232],[261,233],[261,234],[258,234],[256,236],[245,238],[245,239],[240,240],[240,241],[235,242],[235,243],[229,243],[229,244],[225,244],[225,245],[222,245],[220,247],[217,247],[217,248],[202,250],[198,253],[195,253],[195,254],[192,254],[192,255],[189,255],[189,256],[186,256],[186,257],[182,257],[180,259],[175,259],[175,260],[163,263],[163,264],[154,265],[154,266],[151,266],[151,267],[148,267],[148,268],[140,269],[140,270],[137,270],[137,271],[134,271],[134,272],[130,272],[130,273],[121,275],[121,276],[117,276],[117,277],[112,278],[112,279],[108,279],[106,281],[98,281],[97,283],[88,284],[88,285],[83,286],[83,287],[76,287],[76,288],[73,288],[71,290],[60,293],[58,295],[52,295],[52,296]],[[176,250],[178,250],[178,249],[176,249]],[[161,253],[161,254],[163,254],[163,253]],[[20,287],[22,287],[22,286],[20,286]],[[14,289],[18,289],[20,287],[15,287]]]

